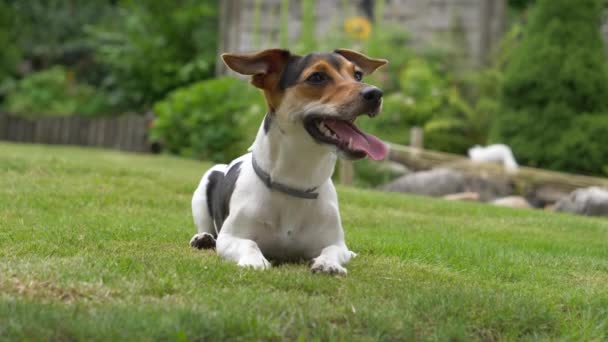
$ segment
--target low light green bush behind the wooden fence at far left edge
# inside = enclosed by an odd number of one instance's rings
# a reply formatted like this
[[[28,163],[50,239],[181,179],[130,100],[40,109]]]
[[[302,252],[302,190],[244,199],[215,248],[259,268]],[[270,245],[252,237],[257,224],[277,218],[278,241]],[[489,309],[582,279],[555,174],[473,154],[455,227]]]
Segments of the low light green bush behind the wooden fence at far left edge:
[[[25,117],[95,115],[109,110],[103,93],[79,83],[61,66],[35,72],[21,79],[7,94],[4,110]]]

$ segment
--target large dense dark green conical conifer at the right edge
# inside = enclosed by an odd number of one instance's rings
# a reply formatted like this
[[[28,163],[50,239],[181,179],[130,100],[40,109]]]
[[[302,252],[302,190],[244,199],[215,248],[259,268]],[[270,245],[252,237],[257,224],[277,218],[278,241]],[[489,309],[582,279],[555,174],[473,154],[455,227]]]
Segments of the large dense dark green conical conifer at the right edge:
[[[599,113],[608,112],[601,13],[596,0],[538,1],[507,66],[492,133],[493,141],[512,147],[518,161],[601,172],[603,162],[596,157],[606,154],[608,144],[585,133],[590,122],[605,120]],[[574,150],[579,153],[567,152]]]

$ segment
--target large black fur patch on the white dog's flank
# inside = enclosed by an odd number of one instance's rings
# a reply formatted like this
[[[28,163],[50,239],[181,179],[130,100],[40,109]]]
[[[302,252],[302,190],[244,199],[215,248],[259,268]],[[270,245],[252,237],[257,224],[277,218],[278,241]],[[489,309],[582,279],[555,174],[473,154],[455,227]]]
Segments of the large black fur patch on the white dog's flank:
[[[224,174],[220,171],[213,171],[209,175],[207,183],[207,209],[209,215],[217,227],[217,231],[222,229],[224,220],[230,213],[230,198],[234,191],[234,185],[241,173],[241,162],[234,164],[230,170]],[[217,235],[214,234],[217,238]]]

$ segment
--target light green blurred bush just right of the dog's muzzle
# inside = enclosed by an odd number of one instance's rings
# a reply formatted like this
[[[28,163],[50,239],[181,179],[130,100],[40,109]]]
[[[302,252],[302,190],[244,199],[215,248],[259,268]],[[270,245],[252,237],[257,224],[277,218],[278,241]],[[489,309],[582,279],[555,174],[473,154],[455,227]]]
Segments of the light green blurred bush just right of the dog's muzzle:
[[[441,74],[440,69],[445,68],[412,58],[400,73],[400,90],[388,94],[382,114],[363,121],[362,127],[398,144],[409,142],[410,127],[423,127],[425,147],[446,152],[464,153],[470,146],[485,144],[496,111],[496,102],[487,96],[491,91],[482,89],[483,96],[469,101],[451,74]],[[488,71],[477,77],[475,83],[483,85],[498,76]]]

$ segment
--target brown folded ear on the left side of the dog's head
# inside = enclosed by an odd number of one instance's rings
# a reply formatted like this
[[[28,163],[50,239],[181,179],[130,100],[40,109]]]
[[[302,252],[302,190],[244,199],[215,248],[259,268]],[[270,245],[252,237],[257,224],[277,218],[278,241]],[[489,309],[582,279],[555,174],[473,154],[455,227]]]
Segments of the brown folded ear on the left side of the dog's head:
[[[230,69],[242,75],[250,75],[251,83],[262,89],[268,89],[268,75],[279,75],[291,54],[288,50],[269,49],[257,53],[224,53],[222,60]],[[272,77],[277,80],[278,77]]]

